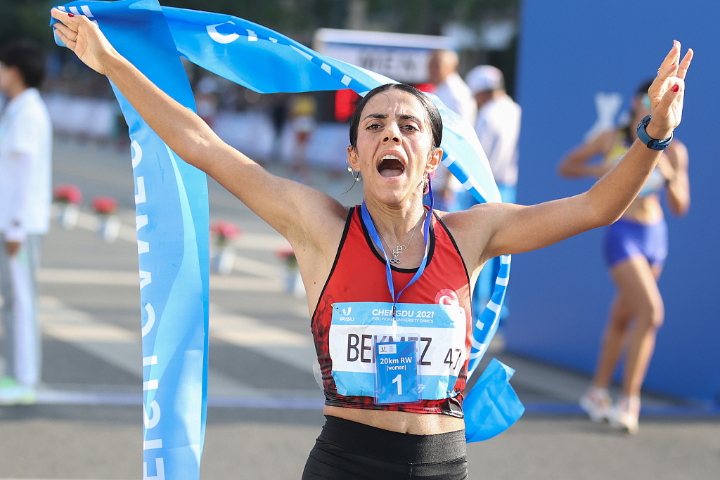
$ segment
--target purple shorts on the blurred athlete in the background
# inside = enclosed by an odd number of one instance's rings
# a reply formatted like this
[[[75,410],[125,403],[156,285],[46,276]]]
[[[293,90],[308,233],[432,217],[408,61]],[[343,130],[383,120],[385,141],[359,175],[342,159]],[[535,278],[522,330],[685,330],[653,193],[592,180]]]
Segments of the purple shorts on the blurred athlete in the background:
[[[642,255],[650,266],[661,266],[667,257],[667,223],[665,219],[642,225],[619,219],[605,229],[605,261],[608,267],[630,257]]]

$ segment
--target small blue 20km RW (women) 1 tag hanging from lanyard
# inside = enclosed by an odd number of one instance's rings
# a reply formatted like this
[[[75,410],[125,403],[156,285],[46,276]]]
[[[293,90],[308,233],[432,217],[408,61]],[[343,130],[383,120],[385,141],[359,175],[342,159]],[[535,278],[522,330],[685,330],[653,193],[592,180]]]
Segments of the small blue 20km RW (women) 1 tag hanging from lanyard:
[[[420,402],[418,340],[375,343],[375,404]]]

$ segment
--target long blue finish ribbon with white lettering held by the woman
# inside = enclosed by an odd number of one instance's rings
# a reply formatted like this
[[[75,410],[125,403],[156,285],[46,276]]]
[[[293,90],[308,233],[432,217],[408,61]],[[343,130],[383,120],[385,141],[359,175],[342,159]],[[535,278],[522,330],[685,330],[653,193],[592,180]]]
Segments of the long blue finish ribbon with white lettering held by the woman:
[[[157,0],[72,1],[58,8],[96,22],[121,55],[190,109],[194,99],[181,56],[259,93],[353,89],[364,96],[377,86],[397,83],[230,15],[163,7]],[[63,45],[58,37],[55,41]],[[207,182],[204,173],[178,158],[122,94],[114,92],[130,127],[137,192],[143,478],[197,479],[207,402]],[[500,201],[472,127],[436,96],[429,96],[443,119],[443,163],[478,201]],[[469,374],[498,328],[509,272],[510,255],[505,255],[492,299],[472,334]],[[506,377],[492,376],[492,381],[503,386]],[[494,391],[512,389],[508,385]],[[479,407],[472,398],[468,395],[465,401],[466,411]],[[521,415],[517,412],[515,420]],[[487,424],[495,435],[512,423],[496,425],[494,417],[469,417]]]

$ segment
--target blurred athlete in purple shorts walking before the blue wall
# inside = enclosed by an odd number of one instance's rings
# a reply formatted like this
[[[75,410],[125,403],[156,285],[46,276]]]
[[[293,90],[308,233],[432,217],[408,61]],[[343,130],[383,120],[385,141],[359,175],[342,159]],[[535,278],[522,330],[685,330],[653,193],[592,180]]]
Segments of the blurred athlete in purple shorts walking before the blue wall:
[[[651,99],[647,93],[651,86],[652,82],[646,82],[636,91],[629,124],[601,133],[572,150],[560,161],[560,175],[600,177],[610,171],[637,139],[635,125],[651,112]],[[598,156],[602,158],[600,162],[590,163]],[[679,216],[688,212],[688,150],[677,139],[673,139],[660,155],[637,198],[605,232],[605,258],[617,293],[611,305],[593,385],[580,399],[580,406],[593,421],[609,420],[613,427],[629,433],[638,431],[640,388],[664,316],[662,297],[657,289],[657,279],[667,256],[667,224],[660,206],[662,191],[665,191],[667,205],[673,214]],[[632,320],[634,327],[630,328]],[[613,407],[608,385],[625,345],[628,351],[623,396]]]

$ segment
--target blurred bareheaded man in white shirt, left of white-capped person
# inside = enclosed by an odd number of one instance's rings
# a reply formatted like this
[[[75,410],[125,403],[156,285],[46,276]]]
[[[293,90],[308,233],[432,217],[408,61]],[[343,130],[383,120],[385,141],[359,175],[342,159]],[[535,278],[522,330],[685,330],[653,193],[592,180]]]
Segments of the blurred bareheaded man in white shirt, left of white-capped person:
[[[437,50],[430,58],[428,73],[430,81],[435,86],[435,94],[446,107],[465,119],[469,124],[475,124],[477,117],[477,104],[472,97],[467,84],[457,73],[459,59],[453,50]],[[433,178],[433,190],[439,208],[451,209],[451,199],[454,194],[449,190],[452,175],[446,166],[440,165]]]

